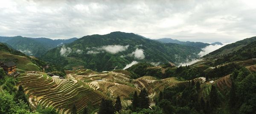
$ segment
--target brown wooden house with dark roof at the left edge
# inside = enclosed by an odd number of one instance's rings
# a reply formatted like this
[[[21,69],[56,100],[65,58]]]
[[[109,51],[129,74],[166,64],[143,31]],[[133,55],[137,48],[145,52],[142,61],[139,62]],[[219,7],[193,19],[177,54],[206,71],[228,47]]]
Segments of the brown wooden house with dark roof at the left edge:
[[[16,64],[12,61],[1,62],[0,67],[6,72],[6,75],[15,75],[16,73]]]

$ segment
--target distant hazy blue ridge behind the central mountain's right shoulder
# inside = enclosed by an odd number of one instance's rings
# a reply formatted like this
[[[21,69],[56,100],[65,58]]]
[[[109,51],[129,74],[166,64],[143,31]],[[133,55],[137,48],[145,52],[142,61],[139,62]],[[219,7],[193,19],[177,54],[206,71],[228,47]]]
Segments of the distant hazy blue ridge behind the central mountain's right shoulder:
[[[156,39],[156,41],[162,42],[162,43],[182,44],[182,45],[192,46],[192,47],[197,47],[197,48],[204,48],[204,47],[210,45],[210,44],[202,43],[202,42],[189,42],[189,41],[182,42],[177,39],[171,39],[171,38]]]

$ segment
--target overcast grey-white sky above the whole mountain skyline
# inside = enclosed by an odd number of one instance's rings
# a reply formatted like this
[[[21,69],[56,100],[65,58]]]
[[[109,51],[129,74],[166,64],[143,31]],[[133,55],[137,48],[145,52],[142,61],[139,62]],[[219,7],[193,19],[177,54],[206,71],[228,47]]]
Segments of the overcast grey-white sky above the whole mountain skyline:
[[[70,1],[0,0],[0,36],[67,39],[123,31],[198,42],[256,36],[256,0]]]

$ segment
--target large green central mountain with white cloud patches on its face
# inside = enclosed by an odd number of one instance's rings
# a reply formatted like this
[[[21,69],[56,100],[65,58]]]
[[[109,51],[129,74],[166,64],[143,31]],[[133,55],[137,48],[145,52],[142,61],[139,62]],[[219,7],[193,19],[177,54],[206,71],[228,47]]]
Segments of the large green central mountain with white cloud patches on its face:
[[[72,70],[87,68],[96,71],[123,69],[132,61],[180,63],[198,57],[200,48],[163,44],[134,33],[112,32],[84,36],[62,47],[49,50],[41,58]]]

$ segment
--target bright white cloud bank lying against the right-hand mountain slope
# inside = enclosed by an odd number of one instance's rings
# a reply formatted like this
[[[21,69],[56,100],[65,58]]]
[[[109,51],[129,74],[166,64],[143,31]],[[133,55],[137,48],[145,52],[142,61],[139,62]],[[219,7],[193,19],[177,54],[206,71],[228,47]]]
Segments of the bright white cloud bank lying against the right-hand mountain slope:
[[[219,48],[221,48],[227,44],[230,44],[230,43],[222,43],[222,44],[223,45],[217,45],[217,44],[216,45],[208,45],[207,47],[204,47],[200,53],[198,53],[198,56],[200,56],[200,57],[205,56],[208,53],[218,50]]]

